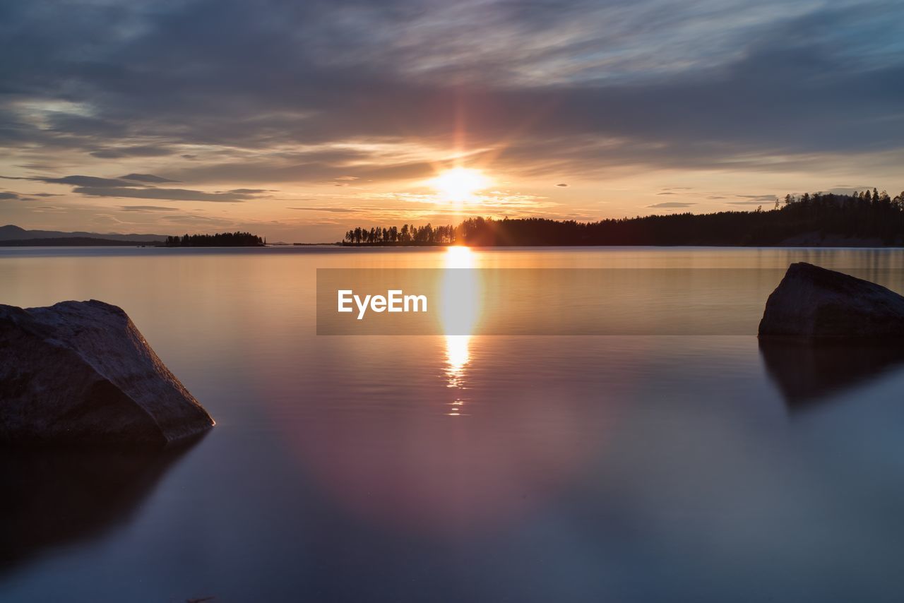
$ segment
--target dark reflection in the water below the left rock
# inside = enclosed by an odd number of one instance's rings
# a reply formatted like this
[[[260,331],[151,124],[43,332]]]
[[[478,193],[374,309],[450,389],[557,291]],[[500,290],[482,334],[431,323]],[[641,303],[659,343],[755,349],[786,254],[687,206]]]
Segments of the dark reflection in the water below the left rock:
[[[198,441],[163,450],[0,450],[0,575],[127,523]]]

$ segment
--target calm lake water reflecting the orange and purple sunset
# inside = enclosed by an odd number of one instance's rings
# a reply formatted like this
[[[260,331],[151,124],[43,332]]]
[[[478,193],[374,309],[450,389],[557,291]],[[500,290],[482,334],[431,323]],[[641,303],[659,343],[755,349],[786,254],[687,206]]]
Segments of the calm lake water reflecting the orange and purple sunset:
[[[469,261],[796,260],[904,290],[901,250]],[[316,268],[444,266],[442,250],[0,250],[0,303],[122,306],[218,423],[181,454],[3,453],[0,600],[901,600],[900,350],[761,349],[777,278],[707,296],[705,320],[747,335],[315,335]]]

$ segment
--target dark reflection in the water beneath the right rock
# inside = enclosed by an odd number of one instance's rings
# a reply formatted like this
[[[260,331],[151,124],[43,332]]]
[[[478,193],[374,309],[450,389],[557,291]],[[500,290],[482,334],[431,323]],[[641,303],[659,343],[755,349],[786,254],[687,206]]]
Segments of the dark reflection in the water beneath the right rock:
[[[759,353],[790,410],[812,406],[904,366],[900,344],[760,339]]]

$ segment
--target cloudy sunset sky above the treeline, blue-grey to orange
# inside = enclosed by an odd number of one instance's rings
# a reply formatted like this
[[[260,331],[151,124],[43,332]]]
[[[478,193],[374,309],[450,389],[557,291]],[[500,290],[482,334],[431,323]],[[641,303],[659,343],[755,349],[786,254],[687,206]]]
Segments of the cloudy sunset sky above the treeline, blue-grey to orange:
[[[5,0],[0,222],[313,242],[894,195],[902,31],[899,0]]]

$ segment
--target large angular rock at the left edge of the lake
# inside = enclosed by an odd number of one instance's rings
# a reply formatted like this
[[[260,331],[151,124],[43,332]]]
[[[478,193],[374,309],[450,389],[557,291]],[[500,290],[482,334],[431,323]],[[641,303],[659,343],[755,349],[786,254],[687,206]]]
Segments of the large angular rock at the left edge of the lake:
[[[164,446],[212,425],[121,308],[0,305],[0,443]]]

